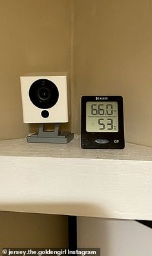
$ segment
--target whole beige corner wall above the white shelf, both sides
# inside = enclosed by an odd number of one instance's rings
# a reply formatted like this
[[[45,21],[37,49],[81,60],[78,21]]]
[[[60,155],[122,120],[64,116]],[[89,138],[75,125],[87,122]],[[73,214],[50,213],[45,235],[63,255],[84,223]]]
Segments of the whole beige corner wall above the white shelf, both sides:
[[[151,0],[1,1],[0,139],[37,129],[23,123],[20,75],[69,71],[74,133],[82,95],[118,94],[126,141],[151,146],[151,17]]]

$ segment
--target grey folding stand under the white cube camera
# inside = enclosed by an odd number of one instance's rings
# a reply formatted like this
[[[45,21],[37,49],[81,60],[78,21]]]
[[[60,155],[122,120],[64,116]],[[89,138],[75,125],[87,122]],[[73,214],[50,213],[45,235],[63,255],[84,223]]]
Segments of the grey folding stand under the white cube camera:
[[[55,124],[54,131],[43,131],[43,124],[39,125],[38,133],[31,134],[27,137],[27,142],[30,143],[69,143],[74,134],[70,131],[59,131],[59,124]]]

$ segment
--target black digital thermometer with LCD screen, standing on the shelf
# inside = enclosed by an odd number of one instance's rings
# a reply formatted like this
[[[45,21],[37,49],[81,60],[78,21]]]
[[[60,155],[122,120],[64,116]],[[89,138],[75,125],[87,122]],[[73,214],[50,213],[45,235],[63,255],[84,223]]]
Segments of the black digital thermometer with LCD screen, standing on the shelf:
[[[122,96],[81,97],[81,147],[124,149]]]

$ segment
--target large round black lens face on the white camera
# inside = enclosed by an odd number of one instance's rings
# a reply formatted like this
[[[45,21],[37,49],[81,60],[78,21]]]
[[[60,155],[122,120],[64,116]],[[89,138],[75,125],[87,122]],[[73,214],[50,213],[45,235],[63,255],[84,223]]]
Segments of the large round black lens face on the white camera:
[[[30,101],[39,109],[50,109],[59,99],[59,91],[49,79],[38,79],[31,84],[28,95]]]

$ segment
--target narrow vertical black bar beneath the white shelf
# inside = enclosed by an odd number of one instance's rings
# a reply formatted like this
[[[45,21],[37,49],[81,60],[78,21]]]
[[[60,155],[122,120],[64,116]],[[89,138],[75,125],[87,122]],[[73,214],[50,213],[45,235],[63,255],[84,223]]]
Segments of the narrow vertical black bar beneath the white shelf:
[[[77,220],[76,216],[68,216],[69,250],[77,250]]]

